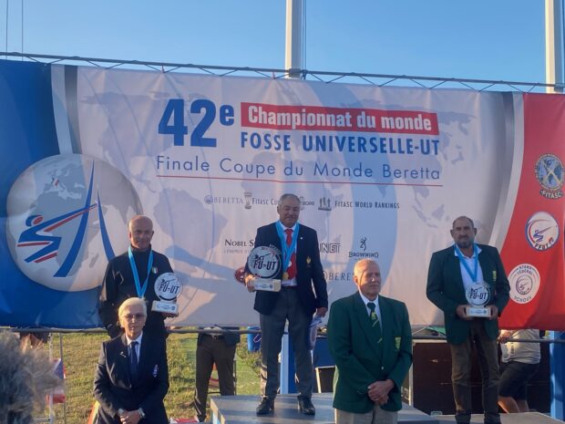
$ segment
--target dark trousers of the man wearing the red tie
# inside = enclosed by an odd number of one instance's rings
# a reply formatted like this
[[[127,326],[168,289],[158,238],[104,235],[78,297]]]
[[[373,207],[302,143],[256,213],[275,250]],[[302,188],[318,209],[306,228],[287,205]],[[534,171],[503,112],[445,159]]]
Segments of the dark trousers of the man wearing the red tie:
[[[312,316],[300,304],[298,290],[282,287],[270,315],[261,314],[261,394],[274,398],[280,386],[279,354],[282,347],[284,325],[288,320],[288,334],[293,342],[296,388],[304,398],[312,397],[312,355],[307,345]]]

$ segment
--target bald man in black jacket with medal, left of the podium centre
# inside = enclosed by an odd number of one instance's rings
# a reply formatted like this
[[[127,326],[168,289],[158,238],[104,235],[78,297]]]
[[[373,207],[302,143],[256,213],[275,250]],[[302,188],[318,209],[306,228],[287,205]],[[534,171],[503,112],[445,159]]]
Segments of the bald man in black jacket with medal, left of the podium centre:
[[[134,216],[128,224],[129,248],[110,260],[100,293],[98,314],[110,337],[121,334],[118,326],[118,306],[128,297],[143,297],[150,311],[155,294],[155,280],[160,274],[172,273],[169,259],[151,248],[153,222],[144,215]],[[165,315],[150,311],[145,331],[165,338]]]

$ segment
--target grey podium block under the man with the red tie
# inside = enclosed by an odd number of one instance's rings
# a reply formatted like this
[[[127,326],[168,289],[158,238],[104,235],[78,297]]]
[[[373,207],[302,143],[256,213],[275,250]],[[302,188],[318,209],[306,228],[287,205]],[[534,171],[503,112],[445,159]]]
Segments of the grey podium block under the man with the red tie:
[[[255,408],[261,398],[258,396],[224,396],[211,398],[212,423],[214,424],[334,424],[332,393],[314,393],[312,403],[316,415],[307,416],[297,409],[296,395],[279,395],[274,402],[274,413],[257,416]],[[439,424],[437,417],[404,404],[398,413],[398,423]]]

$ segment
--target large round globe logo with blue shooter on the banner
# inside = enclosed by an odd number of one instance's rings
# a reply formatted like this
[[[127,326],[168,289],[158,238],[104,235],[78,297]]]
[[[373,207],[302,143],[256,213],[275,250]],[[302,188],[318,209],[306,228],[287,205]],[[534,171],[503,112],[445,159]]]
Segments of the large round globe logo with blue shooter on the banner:
[[[117,169],[78,154],[39,160],[7,197],[6,236],[18,268],[61,291],[98,286],[108,259],[128,248],[139,196]]]

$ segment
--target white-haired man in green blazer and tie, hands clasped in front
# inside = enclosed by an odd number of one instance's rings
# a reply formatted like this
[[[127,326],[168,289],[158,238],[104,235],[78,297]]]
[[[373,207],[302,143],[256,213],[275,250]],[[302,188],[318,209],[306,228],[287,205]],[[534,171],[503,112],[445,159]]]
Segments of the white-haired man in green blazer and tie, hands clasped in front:
[[[408,311],[404,303],[379,295],[375,261],[354,265],[354,283],[358,292],[334,302],[327,327],[336,366],[335,423],[395,423],[412,364]]]

